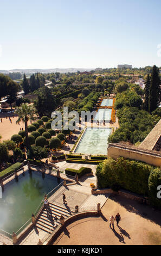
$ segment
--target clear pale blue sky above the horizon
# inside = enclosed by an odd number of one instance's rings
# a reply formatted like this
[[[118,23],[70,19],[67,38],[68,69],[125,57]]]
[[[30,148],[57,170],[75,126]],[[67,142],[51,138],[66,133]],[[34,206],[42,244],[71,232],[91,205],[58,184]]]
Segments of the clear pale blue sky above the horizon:
[[[0,69],[161,66],[160,0],[0,0]]]

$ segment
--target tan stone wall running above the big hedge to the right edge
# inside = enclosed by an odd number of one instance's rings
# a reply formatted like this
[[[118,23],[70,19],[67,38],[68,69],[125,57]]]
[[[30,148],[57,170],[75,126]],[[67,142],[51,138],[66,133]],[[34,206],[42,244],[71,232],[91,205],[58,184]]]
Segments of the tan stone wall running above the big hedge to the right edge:
[[[110,143],[108,145],[108,157],[111,156],[117,160],[118,157],[146,162],[153,166],[161,166],[161,154],[157,151],[127,147],[119,143]]]

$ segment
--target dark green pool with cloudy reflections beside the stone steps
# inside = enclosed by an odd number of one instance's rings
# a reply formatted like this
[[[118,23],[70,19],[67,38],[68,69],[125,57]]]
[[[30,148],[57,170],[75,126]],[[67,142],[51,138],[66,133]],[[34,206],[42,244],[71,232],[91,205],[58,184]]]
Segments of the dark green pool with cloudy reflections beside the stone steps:
[[[48,194],[62,181],[51,175],[27,171],[4,185],[0,199],[0,229],[10,234],[20,229],[35,213],[44,194]]]

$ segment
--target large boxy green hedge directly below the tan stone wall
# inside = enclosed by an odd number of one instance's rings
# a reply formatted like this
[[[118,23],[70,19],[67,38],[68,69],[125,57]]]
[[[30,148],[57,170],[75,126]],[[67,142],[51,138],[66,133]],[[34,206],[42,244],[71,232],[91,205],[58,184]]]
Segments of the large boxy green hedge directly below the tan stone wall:
[[[147,195],[148,179],[153,168],[149,164],[124,159],[124,157],[119,157],[117,160],[109,157],[97,167],[98,187],[117,185],[125,190]]]

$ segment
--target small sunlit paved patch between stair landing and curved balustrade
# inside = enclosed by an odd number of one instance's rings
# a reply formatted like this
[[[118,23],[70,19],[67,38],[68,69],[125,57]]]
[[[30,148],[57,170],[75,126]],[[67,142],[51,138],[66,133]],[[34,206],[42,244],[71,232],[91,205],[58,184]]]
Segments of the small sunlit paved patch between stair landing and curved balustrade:
[[[88,197],[85,203],[81,205],[81,208],[91,208],[91,207],[96,207],[98,203],[104,206],[106,203],[108,197],[110,196],[109,194],[93,194],[92,196]]]

